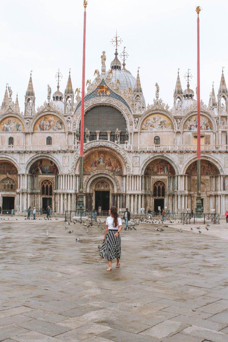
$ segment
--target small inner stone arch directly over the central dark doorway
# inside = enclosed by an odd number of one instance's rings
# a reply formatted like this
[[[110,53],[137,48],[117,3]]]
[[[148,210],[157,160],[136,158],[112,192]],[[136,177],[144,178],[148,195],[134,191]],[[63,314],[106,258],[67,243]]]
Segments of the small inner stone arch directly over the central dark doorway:
[[[86,180],[84,181],[84,185],[83,185],[84,192],[89,193],[91,190],[91,186],[94,186],[98,180],[104,180],[108,182],[112,193],[120,192],[120,185],[119,185],[118,180],[116,179],[115,176],[108,174],[108,171],[107,173],[105,172],[105,175],[103,172],[99,171],[97,173],[93,173],[90,176],[88,176]]]

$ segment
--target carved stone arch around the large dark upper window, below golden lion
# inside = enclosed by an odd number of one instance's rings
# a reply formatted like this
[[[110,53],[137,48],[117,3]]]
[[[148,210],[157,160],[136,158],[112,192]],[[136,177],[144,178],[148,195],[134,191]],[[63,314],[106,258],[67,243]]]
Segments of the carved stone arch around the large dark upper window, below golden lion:
[[[91,100],[88,100],[85,102],[85,112],[92,109],[95,106],[100,106],[100,105],[111,106],[111,107],[118,109],[123,115],[124,119],[126,120],[126,126],[127,126],[126,128],[129,131],[134,130],[134,124],[133,124],[134,118],[133,118],[132,112],[121,101],[115,98],[107,97],[107,96],[94,97]],[[77,129],[79,130],[80,121],[81,121],[81,105],[77,108],[73,116],[72,129],[74,131]]]

